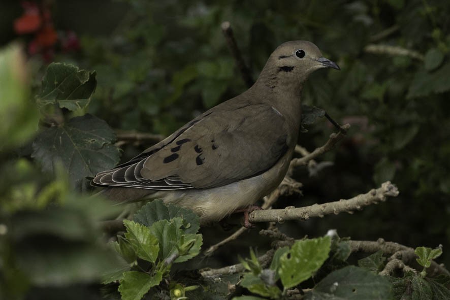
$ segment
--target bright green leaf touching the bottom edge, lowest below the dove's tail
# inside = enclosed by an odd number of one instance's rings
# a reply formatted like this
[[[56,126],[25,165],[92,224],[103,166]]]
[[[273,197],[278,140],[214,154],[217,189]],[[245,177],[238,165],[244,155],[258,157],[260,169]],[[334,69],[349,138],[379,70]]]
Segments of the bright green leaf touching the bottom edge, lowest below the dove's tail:
[[[120,280],[119,292],[122,300],[140,300],[150,290],[163,280],[163,274],[156,272],[150,276],[143,272],[129,271],[123,273]]]

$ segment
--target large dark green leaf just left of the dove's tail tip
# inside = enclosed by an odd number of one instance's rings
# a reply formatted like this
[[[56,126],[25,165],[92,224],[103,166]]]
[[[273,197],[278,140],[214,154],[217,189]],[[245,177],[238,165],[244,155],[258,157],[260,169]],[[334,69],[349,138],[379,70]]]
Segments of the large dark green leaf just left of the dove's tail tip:
[[[44,129],[33,143],[33,156],[45,171],[54,172],[56,161],[62,162],[73,184],[119,162],[119,151],[112,144],[114,132],[105,121],[86,114],[66,124]]]

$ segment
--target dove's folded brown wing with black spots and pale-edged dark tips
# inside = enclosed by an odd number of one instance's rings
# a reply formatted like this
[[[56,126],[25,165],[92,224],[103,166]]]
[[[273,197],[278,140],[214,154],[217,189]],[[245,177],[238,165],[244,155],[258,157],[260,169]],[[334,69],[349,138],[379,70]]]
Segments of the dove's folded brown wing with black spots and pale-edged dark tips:
[[[94,184],[148,189],[212,188],[270,169],[287,151],[284,117],[266,104],[210,110]]]

